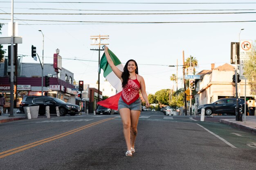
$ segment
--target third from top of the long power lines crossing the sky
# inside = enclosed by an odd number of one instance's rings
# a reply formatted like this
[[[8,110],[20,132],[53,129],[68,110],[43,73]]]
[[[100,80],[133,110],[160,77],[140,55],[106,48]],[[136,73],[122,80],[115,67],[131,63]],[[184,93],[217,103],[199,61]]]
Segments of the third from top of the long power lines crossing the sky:
[[[193,14],[244,14],[256,12],[222,12],[222,13],[14,13],[15,15],[193,15]],[[11,13],[0,13],[0,15]]]

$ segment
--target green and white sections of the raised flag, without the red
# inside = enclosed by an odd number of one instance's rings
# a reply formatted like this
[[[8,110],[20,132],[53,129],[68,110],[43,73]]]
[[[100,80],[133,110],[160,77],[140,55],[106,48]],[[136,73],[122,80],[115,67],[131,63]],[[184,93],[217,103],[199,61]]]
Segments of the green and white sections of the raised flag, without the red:
[[[117,58],[117,56],[108,49],[108,53],[114,62],[114,64],[121,70],[121,72],[124,71],[124,65],[122,65],[121,61]],[[110,68],[110,65],[108,64],[107,58],[105,53],[101,57],[101,61],[99,64],[99,73],[101,73],[101,69],[103,70],[103,76],[108,80],[108,82],[117,89],[117,93],[121,92],[123,90],[121,80],[115,75],[115,73]]]

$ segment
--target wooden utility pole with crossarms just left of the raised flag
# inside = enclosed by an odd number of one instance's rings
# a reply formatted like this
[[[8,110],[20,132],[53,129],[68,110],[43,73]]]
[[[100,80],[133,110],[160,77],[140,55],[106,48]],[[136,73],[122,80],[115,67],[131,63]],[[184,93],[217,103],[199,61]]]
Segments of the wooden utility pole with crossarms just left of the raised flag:
[[[99,51],[99,64],[100,64],[100,52],[103,51],[103,49],[101,49],[102,45],[108,45],[108,44],[101,44],[101,40],[105,40],[105,39],[109,39],[108,35],[95,35],[95,36],[91,36],[90,39],[92,39],[93,43],[91,44],[92,46],[99,46],[99,49],[90,49],[90,50],[97,50]],[[98,99],[97,101],[99,102],[99,73],[98,73]]]

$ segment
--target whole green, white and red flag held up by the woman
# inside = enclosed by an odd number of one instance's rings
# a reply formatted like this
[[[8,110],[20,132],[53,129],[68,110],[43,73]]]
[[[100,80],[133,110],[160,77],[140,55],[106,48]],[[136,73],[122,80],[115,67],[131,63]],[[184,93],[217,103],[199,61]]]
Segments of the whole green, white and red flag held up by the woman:
[[[117,56],[108,49],[108,53],[114,62],[114,64],[121,70],[121,72],[124,71],[124,65],[122,65],[121,61],[117,58]],[[118,110],[118,100],[122,94],[122,83],[121,80],[115,75],[115,73],[110,68],[110,65],[108,64],[107,58],[105,53],[101,57],[101,61],[99,64],[99,73],[101,73],[101,69],[103,70],[103,76],[108,80],[108,82],[117,89],[117,94],[114,96],[111,96],[105,100],[97,102],[98,105],[101,105],[103,107],[107,107],[110,109]]]

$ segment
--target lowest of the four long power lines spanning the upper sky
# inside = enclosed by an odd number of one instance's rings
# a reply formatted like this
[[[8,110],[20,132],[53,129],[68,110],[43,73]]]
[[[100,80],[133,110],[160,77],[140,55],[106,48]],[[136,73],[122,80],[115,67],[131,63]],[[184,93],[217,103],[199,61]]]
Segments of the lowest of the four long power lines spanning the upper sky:
[[[0,20],[10,20],[0,18]],[[119,22],[119,21],[64,21],[64,20],[23,20],[16,19],[18,21],[39,21],[39,22],[79,22],[79,23],[108,23],[108,24],[175,24],[175,23],[228,23],[228,22],[256,22],[255,20],[247,20],[247,21],[184,21],[184,22]],[[28,24],[29,25],[29,24]],[[32,24],[31,24],[32,25]]]

